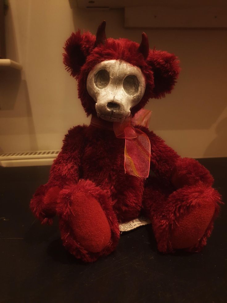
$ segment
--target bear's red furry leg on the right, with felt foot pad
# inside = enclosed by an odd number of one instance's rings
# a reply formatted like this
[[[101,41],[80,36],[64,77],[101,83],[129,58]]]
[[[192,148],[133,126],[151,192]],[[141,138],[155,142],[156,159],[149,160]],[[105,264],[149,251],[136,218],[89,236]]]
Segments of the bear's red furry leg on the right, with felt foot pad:
[[[154,182],[144,193],[144,209],[152,221],[158,250],[200,251],[212,232],[220,195],[202,183],[170,191]]]

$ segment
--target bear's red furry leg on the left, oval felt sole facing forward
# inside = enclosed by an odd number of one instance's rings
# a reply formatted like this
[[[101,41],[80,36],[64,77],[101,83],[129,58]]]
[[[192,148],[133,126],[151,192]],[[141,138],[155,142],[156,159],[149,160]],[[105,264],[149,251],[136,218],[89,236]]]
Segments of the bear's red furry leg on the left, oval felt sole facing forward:
[[[85,262],[108,255],[118,244],[119,225],[107,192],[89,180],[65,187],[57,214],[63,245]]]

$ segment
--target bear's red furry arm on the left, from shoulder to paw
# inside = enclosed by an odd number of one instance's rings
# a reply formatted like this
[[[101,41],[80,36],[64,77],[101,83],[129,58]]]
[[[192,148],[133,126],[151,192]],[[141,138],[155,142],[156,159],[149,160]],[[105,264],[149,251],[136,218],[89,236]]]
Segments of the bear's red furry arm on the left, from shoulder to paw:
[[[79,125],[68,131],[62,149],[52,164],[48,182],[41,185],[31,199],[31,211],[42,223],[52,222],[60,190],[80,179],[80,156],[85,144],[86,127]]]

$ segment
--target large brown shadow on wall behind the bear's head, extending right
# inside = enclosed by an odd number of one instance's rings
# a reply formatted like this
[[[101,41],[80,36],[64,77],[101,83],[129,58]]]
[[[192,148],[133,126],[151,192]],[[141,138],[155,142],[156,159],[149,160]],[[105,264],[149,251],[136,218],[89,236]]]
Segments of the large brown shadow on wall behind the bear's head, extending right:
[[[227,31],[200,29],[129,29],[124,27],[123,10],[87,11],[72,5],[74,30],[96,33],[106,20],[108,37],[125,37],[139,42],[144,30],[157,49],[175,53],[182,71],[175,89],[164,99],[152,99],[146,108],[153,111],[152,129],[210,129],[226,106]]]

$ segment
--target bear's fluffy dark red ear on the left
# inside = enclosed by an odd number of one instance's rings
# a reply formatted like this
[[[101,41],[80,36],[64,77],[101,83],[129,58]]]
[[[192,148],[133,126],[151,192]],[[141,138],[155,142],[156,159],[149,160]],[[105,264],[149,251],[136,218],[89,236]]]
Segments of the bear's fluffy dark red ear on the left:
[[[71,76],[77,77],[79,75],[80,68],[85,64],[86,58],[92,51],[94,43],[94,35],[90,32],[85,32],[81,35],[80,30],[72,33],[65,42],[63,63]]]

